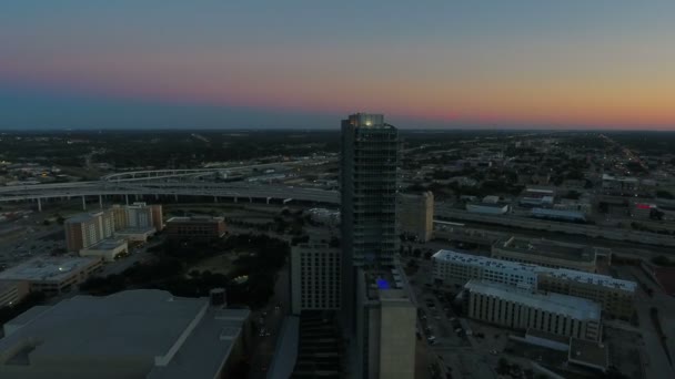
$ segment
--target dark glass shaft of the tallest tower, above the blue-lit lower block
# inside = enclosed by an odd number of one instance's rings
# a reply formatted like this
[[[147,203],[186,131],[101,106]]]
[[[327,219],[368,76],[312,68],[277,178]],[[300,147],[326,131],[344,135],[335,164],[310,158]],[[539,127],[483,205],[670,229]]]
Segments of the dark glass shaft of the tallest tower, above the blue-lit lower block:
[[[392,266],[397,252],[399,133],[382,114],[342,121],[342,246],[347,265]]]

